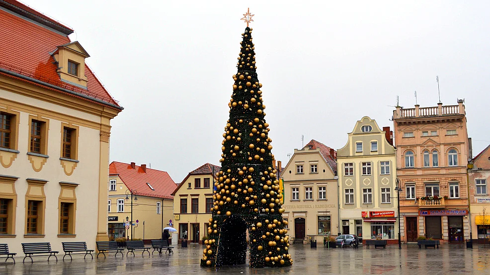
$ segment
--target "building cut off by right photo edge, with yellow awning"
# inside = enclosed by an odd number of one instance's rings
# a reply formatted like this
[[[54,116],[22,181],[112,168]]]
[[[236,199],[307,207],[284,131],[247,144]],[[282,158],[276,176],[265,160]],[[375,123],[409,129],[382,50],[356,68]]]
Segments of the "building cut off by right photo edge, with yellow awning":
[[[468,163],[471,239],[490,239],[490,145]]]

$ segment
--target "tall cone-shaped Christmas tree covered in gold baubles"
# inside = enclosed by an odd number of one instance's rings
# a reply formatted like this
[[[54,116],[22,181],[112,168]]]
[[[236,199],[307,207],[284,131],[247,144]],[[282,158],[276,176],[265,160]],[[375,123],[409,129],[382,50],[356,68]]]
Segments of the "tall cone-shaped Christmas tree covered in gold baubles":
[[[250,267],[284,267],[293,262],[251,32],[246,27],[242,34],[238,72],[233,75],[230,119],[223,134],[221,170],[216,174],[213,217],[201,266],[244,264],[246,229]]]

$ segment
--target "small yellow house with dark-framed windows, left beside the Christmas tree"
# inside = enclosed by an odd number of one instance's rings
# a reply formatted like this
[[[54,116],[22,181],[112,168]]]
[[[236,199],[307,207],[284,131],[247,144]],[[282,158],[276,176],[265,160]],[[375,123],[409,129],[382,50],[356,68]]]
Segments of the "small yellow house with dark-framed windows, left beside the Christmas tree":
[[[207,236],[213,207],[213,179],[220,166],[206,163],[187,174],[172,193],[174,221],[179,242],[199,243]]]

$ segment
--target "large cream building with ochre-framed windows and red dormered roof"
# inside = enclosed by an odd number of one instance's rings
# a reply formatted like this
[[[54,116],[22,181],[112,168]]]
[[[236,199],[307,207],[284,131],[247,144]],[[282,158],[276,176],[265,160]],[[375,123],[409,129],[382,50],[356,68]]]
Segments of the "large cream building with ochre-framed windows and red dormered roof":
[[[110,120],[123,109],[85,64],[73,30],[0,4],[0,242],[107,236]]]

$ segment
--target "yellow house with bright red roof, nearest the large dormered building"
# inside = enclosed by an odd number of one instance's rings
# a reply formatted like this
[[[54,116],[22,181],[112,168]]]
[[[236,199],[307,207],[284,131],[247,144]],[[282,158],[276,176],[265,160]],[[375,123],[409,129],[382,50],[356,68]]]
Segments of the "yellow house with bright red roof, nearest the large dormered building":
[[[177,186],[168,173],[147,168],[146,164],[113,161],[108,183],[109,238],[142,239],[148,243],[161,239],[163,228],[172,219],[170,194]]]

